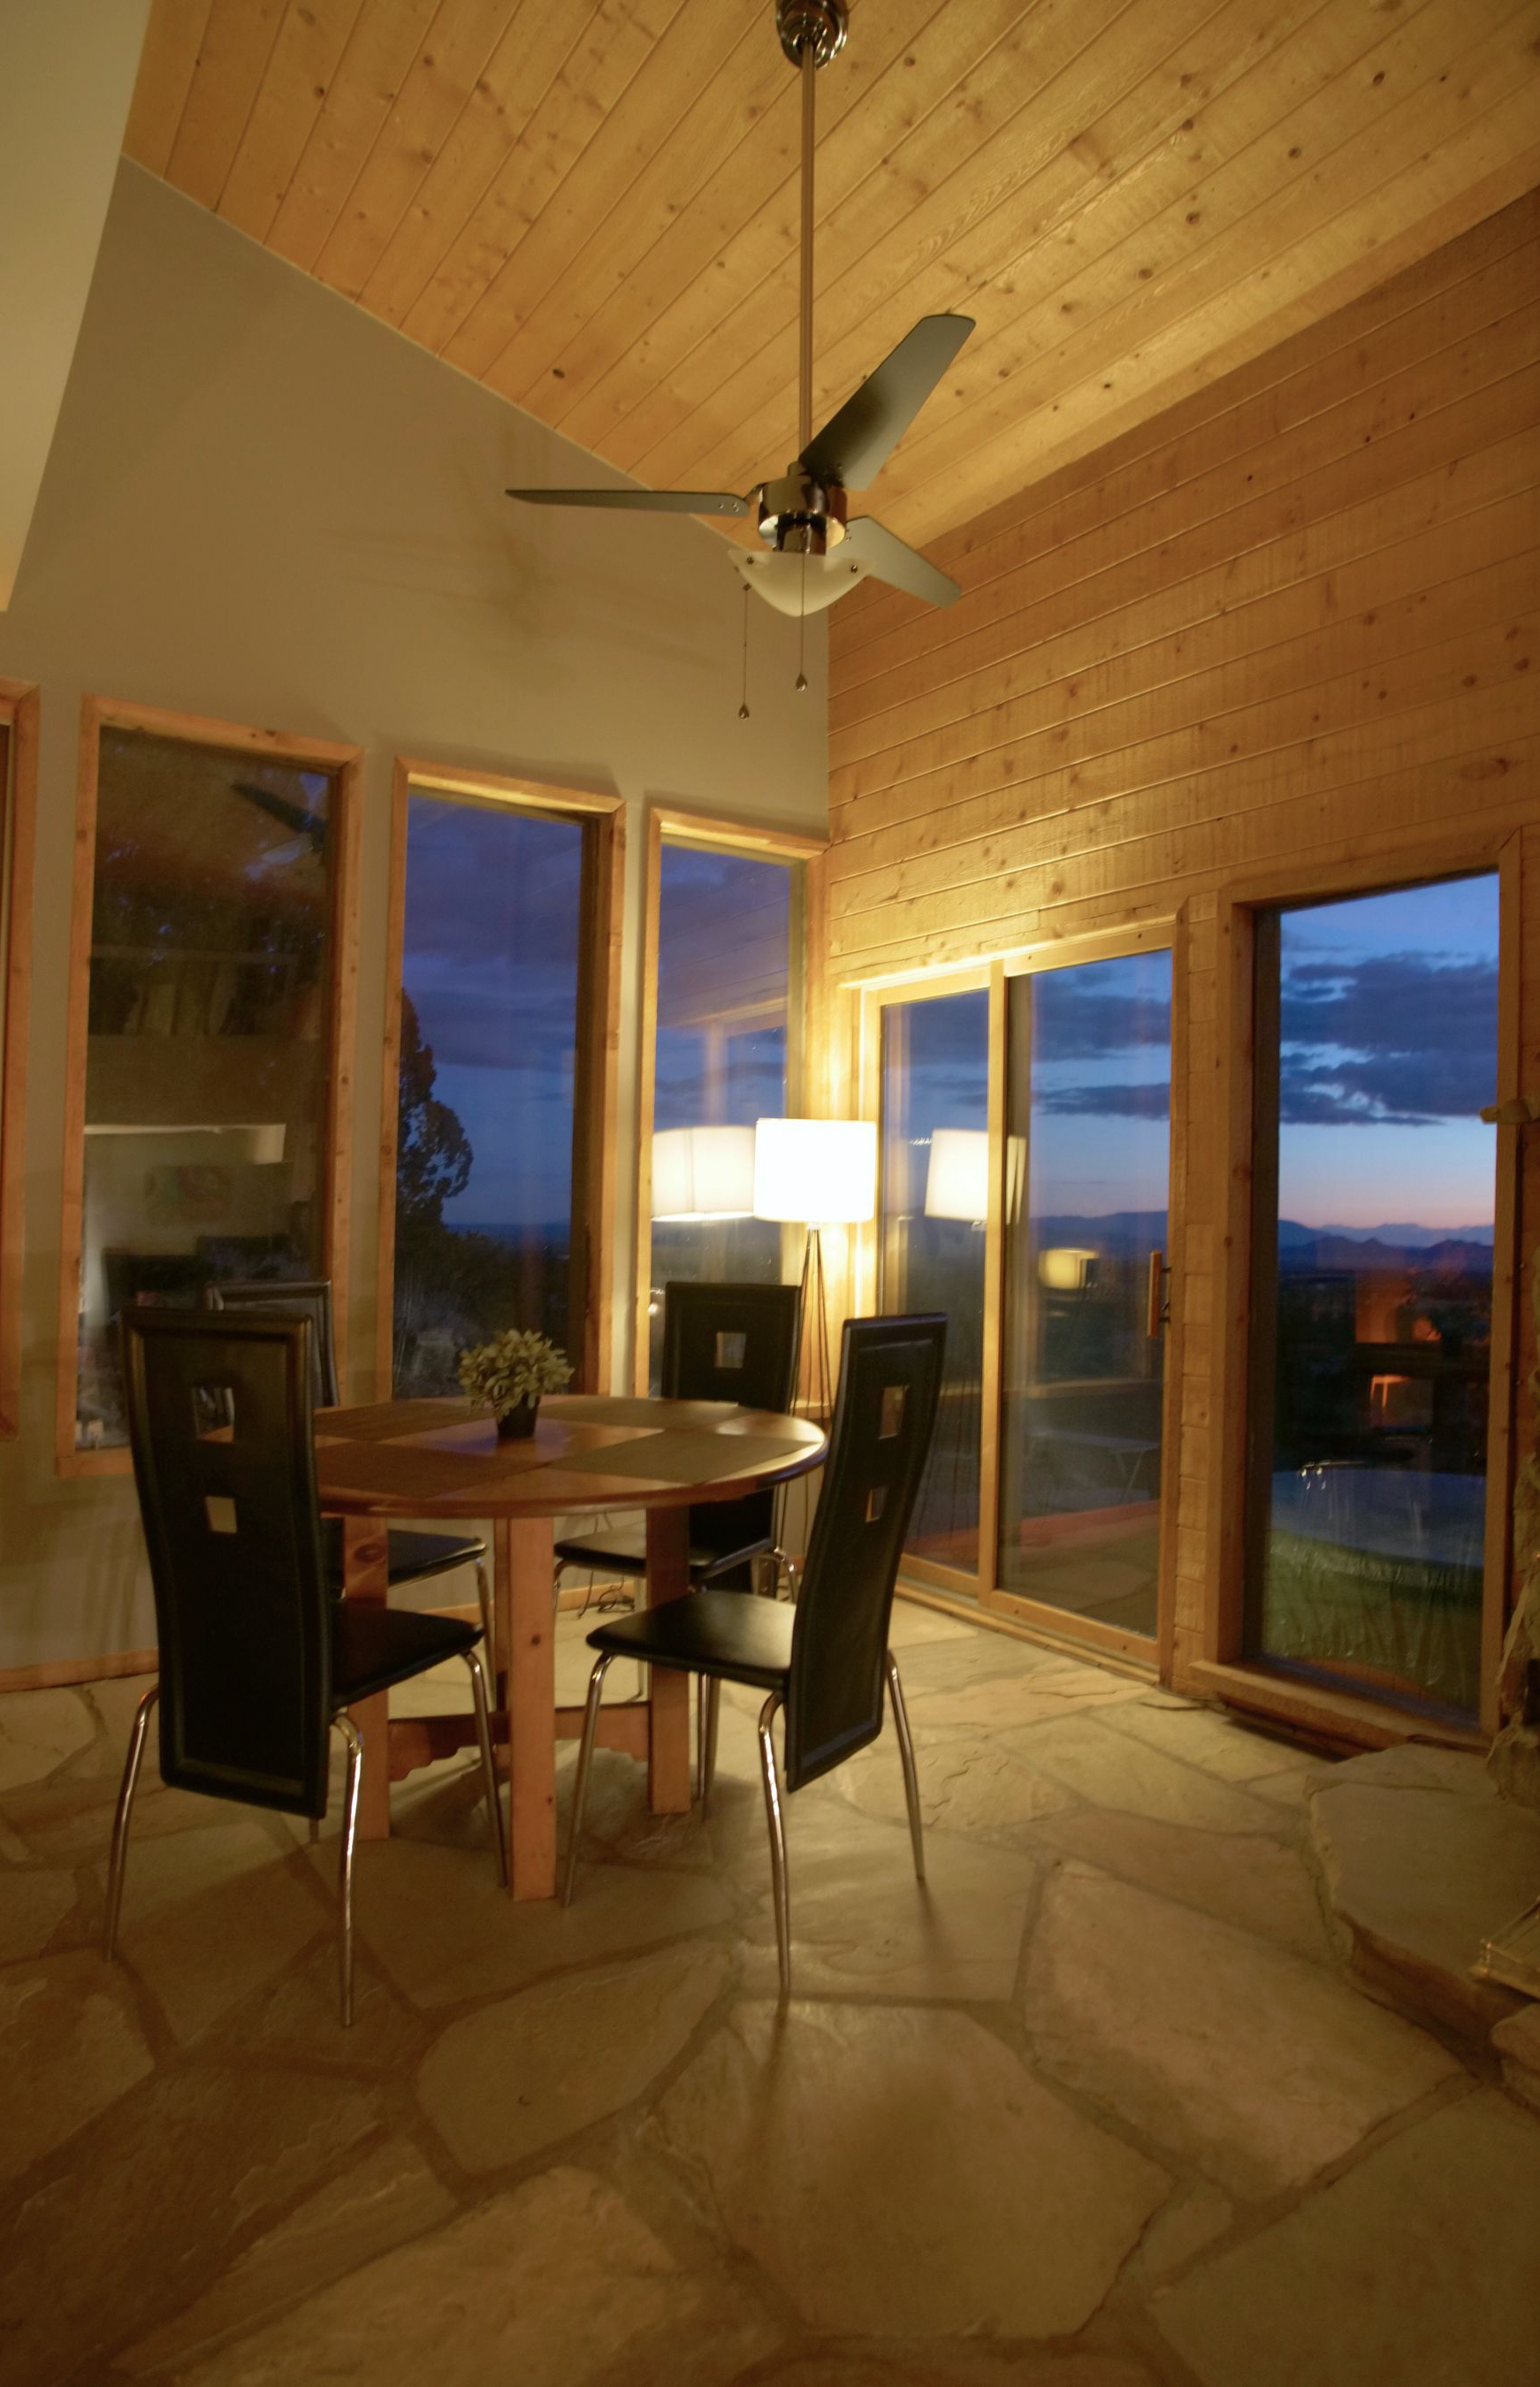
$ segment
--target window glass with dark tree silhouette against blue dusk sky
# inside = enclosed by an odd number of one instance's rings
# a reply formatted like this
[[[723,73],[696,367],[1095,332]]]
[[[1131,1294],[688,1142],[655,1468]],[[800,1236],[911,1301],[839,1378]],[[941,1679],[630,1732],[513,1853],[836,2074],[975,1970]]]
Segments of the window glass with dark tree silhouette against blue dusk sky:
[[[406,814],[392,1384],[537,1327],[573,1363],[580,821],[415,790]]]

